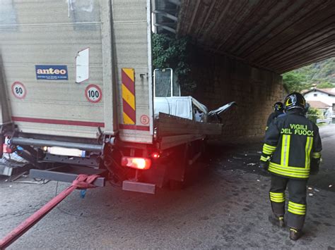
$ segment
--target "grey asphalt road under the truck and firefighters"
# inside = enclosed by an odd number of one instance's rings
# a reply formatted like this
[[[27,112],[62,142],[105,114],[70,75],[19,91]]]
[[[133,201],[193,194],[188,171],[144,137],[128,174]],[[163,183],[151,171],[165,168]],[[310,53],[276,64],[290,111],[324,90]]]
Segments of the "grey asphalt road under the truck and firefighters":
[[[334,249],[335,125],[320,132],[323,162],[310,178],[305,235],[298,242],[269,223],[261,144],[212,144],[187,188],[150,195],[107,186],[88,190],[85,199],[76,190],[8,249]],[[67,186],[0,177],[0,238]]]

